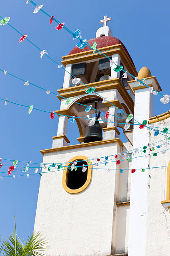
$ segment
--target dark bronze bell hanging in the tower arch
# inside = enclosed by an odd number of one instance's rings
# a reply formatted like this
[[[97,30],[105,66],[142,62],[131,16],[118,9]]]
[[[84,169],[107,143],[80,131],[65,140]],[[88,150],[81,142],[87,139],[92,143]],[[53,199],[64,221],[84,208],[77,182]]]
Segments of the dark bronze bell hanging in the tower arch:
[[[84,143],[102,141],[102,126],[99,121],[95,121],[95,124],[90,127],[90,132],[84,138]]]

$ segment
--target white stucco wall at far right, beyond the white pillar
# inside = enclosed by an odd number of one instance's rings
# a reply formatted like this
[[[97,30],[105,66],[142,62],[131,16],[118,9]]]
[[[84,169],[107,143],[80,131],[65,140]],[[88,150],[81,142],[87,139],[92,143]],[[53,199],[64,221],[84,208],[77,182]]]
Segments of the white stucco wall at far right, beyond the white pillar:
[[[170,118],[165,121],[154,123],[156,127],[170,127]],[[165,136],[153,136],[153,131],[150,131],[150,143],[165,139]],[[169,136],[169,135],[168,135]],[[163,141],[165,143],[167,140]],[[160,143],[156,143],[157,146]],[[156,148],[156,147],[155,147]],[[170,148],[170,144],[156,148],[154,152],[159,152]],[[152,152],[151,152],[152,153]],[[158,153],[158,156],[150,157],[150,167],[165,166],[170,161],[170,150],[166,154]],[[170,255],[170,215],[160,201],[166,200],[166,175],[167,167],[150,169],[151,179],[150,188],[148,188],[147,202],[147,233],[146,233],[146,256],[169,256]],[[164,213],[163,213],[164,212]],[[169,233],[169,235],[168,235]]]

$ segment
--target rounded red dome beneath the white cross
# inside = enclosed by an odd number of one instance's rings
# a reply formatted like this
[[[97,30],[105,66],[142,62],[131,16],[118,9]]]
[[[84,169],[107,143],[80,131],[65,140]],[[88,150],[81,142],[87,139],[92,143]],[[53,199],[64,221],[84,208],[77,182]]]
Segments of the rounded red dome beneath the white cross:
[[[94,42],[97,43],[97,48],[102,48],[102,47],[111,46],[111,45],[115,45],[115,44],[122,44],[123,48],[125,49],[130,60],[133,63],[133,60],[130,57],[130,54],[128,53],[128,50],[126,49],[124,44],[118,38],[113,37],[113,36],[100,36],[100,37],[92,38],[92,39],[88,40],[88,44],[90,44],[91,46],[94,44]],[[88,46],[85,46],[84,49],[80,49],[77,46],[75,46],[75,48],[73,48],[70,51],[69,55],[76,54],[76,53],[83,52],[83,51],[89,51],[89,50],[90,50],[90,48]],[[134,63],[133,63],[133,65],[134,65]],[[134,67],[135,67],[135,65],[134,65]]]

